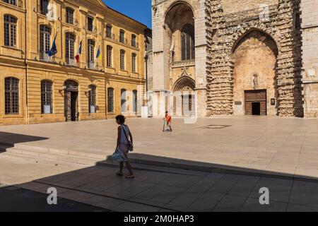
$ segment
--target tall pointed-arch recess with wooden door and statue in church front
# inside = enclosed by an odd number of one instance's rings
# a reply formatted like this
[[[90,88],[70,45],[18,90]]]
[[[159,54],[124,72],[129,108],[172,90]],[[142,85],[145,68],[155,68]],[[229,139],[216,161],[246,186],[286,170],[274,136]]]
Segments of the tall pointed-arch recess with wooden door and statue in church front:
[[[233,114],[276,115],[278,47],[265,32],[252,30],[237,41],[234,63]]]

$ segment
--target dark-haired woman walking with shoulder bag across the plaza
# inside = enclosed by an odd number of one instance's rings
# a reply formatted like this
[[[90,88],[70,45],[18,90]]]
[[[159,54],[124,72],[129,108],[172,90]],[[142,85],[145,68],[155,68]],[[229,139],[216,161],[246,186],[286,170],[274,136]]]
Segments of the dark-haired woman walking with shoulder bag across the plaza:
[[[116,117],[116,122],[119,124],[118,126],[118,136],[117,136],[117,148],[122,150],[122,153],[124,153],[125,156],[125,161],[127,169],[129,171],[129,175],[126,176],[126,178],[134,178],[134,172],[131,168],[130,162],[128,160],[128,153],[129,153],[129,145],[132,145],[133,143],[133,138],[131,135],[131,132],[129,131],[129,127],[124,124],[125,123],[125,117],[122,115],[117,115]],[[129,138],[130,141],[129,141]],[[123,176],[122,170],[124,168],[124,162],[119,162],[119,172],[117,172],[118,176]]]

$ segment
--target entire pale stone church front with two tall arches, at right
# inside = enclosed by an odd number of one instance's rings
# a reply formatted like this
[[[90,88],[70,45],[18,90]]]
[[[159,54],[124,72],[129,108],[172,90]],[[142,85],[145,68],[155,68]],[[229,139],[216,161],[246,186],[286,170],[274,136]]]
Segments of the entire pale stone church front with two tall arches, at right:
[[[300,2],[153,0],[153,116],[317,117],[317,87],[303,82],[310,4]]]

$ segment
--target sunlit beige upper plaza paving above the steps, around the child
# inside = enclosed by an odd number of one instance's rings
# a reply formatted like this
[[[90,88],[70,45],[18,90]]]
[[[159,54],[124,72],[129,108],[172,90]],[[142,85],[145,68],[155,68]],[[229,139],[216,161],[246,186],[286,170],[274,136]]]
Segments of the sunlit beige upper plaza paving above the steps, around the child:
[[[134,136],[131,157],[318,178],[317,119],[215,117],[184,124],[174,118],[172,133],[162,132],[162,119],[126,122]],[[0,127],[0,143],[100,160],[113,153],[116,136],[114,119]]]

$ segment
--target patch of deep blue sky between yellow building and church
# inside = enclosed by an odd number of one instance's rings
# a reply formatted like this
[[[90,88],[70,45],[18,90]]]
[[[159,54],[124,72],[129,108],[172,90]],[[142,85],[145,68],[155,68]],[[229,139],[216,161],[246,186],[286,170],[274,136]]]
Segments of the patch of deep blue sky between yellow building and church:
[[[151,0],[102,0],[110,8],[124,13],[151,28]]]

